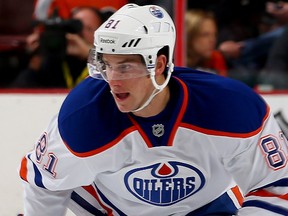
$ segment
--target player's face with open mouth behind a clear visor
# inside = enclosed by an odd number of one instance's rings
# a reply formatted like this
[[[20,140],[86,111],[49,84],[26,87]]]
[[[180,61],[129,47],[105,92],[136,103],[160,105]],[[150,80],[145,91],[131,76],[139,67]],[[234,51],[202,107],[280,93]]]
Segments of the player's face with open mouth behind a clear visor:
[[[140,55],[103,54],[103,62],[109,65],[108,83],[117,107],[121,112],[130,112],[145,103],[153,92],[154,86],[149,75],[147,75],[147,69],[141,61]],[[127,67],[129,70],[133,69],[129,73],[144,75],[135,75],[134,78],[123,79],[122,75],[120,75],[121,70],[125,70]],[[120,76],[120,78],[117,79],[117,76]]]

